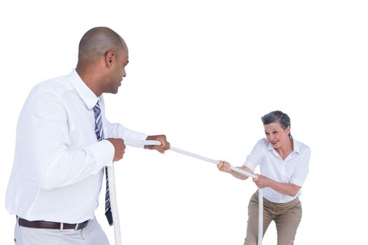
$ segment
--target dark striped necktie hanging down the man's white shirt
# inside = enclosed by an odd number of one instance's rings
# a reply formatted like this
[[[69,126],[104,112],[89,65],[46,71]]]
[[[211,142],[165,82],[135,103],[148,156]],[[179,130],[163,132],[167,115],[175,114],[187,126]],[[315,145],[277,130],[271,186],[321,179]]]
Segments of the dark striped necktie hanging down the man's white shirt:
[[[100,104],[95,105],[93,107],[93,111],[95,112],[95,133],[97,136],[97,140],[101,141],[104,139],[104,132],[102,130],[102,116],[101,116],[101,108]],[[111,204],[110,204],[110,193],[109,193],[109,176],[107,176],[107,167],[104,168],[106,173],[106,196],[105,196],[105,215],[107,221],[109,221],[109,225],[113,225],[112,214],[111,214]]]

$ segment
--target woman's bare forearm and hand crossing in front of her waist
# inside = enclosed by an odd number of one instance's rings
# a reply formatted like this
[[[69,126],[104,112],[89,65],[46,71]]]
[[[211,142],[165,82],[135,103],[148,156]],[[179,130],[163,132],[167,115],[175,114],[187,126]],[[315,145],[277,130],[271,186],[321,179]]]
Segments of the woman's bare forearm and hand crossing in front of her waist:
[[[266,176],[261,174],[257,174],[258,178],[253,179],[254,183],[258,186],[258,188],[269,187],[273,190],[281,193],[283,195],[288,195],[294,197],[297,195],[300,190],[300,186],[294,185],[293,183],[280,183],[277,181],[273,181],[272,179],[268,179]]]

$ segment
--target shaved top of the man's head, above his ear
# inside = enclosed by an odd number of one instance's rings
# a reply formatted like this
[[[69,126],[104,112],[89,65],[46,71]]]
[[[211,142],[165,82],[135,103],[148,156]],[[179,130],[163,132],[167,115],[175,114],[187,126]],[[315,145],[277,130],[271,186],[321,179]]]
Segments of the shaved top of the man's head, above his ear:
[[[79,42],[79,65],[93,64],[108,51],[128,50],[119,34],[108,27],[95,27],[86,32]]]

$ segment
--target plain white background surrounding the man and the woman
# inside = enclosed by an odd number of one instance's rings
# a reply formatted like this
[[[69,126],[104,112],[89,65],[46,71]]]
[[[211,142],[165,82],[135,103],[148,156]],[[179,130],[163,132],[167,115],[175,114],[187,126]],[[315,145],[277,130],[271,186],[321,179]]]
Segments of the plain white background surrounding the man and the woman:
[[[105,96],[111,122],[242,165],[264,137],[261,116],[282,110],[312,149],[295,244],[362,244],[367,11],[354,0],[1,1],[1,244],[13,243],[4,199],[22,104],[36,83],[75,67],[81,36],[96,26],[117,31],[130,51],[122,87]],[[243,244],[252,181],[137,148],[116,177],[123,244]],[[271,225],[264,244],[275,240]]]

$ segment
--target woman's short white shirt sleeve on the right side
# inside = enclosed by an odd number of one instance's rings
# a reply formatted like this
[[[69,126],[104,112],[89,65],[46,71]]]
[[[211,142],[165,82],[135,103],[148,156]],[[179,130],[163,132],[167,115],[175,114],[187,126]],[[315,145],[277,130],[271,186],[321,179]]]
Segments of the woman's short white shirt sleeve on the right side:
[[[303,187],[306,176],[309,172],[309,159],[311,158],[311,148],[304,145],[299,155],[299,160],[294,168],[290,183]]]

